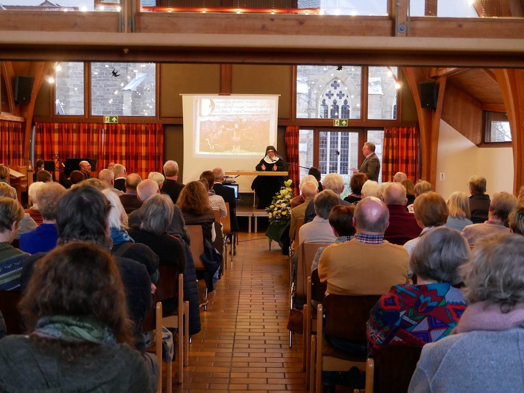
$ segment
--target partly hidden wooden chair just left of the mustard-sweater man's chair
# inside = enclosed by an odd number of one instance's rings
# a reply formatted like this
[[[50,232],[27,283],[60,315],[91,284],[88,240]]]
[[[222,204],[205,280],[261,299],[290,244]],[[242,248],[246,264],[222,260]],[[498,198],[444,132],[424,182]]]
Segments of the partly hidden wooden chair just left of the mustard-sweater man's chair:
[[[311,302],[318,301],[322,303],[325,298],[326,290],[328,289],[327,282],[320,282],[319,272],[314,269],[311,272],[311,277],[308,277],[307,298],[304,305],[304,337],[303,337],[303,359],[302,368],[305,370],[306,384],[309,387],[309,376],[311,373],[311,334],[316,333],[316,308],[314,309]],[[313,310],[315,312],[313,312]]]

